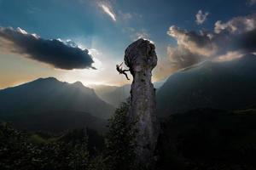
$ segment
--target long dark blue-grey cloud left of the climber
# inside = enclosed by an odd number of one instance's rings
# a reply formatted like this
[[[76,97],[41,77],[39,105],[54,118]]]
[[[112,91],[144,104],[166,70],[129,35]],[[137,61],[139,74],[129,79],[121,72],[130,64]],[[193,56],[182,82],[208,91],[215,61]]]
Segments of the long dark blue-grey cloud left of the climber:
[[[64,70],[95,69],[87,49],[81,49],[70,41],[46,40],[20,28],[0,27],[0,48]]]

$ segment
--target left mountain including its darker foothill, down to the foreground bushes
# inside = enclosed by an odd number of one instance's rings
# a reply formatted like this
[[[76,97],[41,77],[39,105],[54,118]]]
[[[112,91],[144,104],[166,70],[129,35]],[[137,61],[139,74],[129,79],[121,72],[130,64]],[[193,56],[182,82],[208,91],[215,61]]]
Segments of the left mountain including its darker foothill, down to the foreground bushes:
[[[0,119],[17,127],[55,131],[75,127],[105,128],[114,111],[81,82],[39,78],[0,90]]]

